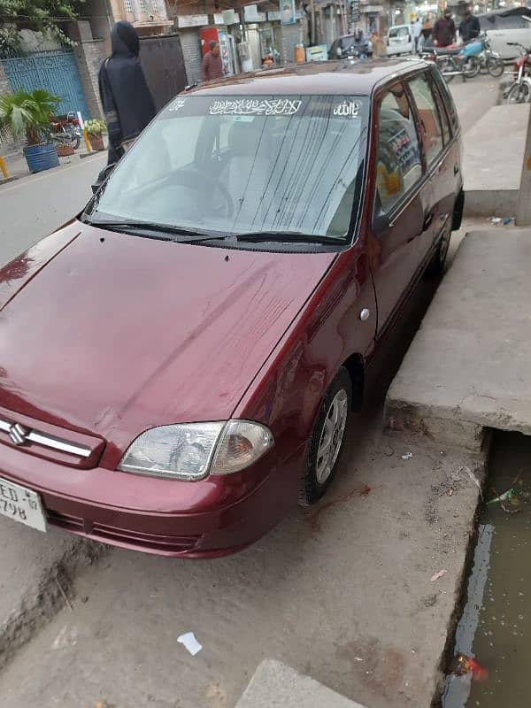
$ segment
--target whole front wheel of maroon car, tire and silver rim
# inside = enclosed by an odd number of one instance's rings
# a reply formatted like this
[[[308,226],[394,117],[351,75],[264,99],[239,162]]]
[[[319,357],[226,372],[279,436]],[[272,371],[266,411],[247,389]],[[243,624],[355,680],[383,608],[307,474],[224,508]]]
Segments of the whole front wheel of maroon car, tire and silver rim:
[[[306,451],[299,484],[299,504],[319,501],[335,477],[347,427],[352,385],[347,370],[340,368],[319,408]]]

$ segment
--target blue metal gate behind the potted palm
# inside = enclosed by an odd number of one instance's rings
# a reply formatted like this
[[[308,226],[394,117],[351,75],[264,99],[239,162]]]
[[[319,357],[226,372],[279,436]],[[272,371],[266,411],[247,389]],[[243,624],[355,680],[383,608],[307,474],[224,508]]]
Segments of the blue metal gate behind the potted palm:
[[[80,75],[71,51],[44,51],[28,57],[2,59],[4,72],[12,89],[46,89],[58,96],[58,114],[81,111],[89,118]]]

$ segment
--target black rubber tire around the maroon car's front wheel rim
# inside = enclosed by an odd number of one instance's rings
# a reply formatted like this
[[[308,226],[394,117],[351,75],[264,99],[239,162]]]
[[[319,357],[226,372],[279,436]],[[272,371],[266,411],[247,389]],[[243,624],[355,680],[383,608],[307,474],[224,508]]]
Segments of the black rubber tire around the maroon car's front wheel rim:
[[[334,381],[332,381],[328,387],[327,394],[320,405],[317,418],[313,425],[312,437],[308,443],[306,458],[304,460],[304,471],[299,482],[299,504],[301,506],[311,506],[318,502],[320,497],[327,491],[337,472],[344,447],[346,419],[342,427],[341,440],[335,441],[335,444],[337,445],[337,443],[339,443],[339,446],[335,446],[334,450],[331,450],[331,457],[333,458],[331,468],[326,478],[319,481],[319,448],[322,443],[325,443],[324,438],[327,435],[326,423],[327,420],[330,420],[330,412],[334,402],[338,400],[338,398],[344,401],[341,394],[346,395],[345,414],[348,417],[350,404],[352,402],[352,384],[350,382],[349,373],[344,367],[339,369]],[[334,440],[331,441],[331,445],[334,445]]]

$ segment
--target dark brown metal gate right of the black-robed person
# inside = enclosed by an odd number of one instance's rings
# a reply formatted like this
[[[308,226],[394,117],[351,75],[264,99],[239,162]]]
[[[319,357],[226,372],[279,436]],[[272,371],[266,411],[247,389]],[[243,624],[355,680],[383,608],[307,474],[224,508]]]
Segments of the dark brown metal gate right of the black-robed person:
[[[188,81],[179,35],[140,38],[140,60],[159,111]]]

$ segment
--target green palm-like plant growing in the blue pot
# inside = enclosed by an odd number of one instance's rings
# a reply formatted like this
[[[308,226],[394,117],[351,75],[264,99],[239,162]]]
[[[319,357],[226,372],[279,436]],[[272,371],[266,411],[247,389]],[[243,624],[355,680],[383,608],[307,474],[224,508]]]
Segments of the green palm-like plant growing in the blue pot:
[[[0,141],[26,137],[28,145],[38,145],[50,135],[50,118],[59,101],[43,89],[0,96]]]

